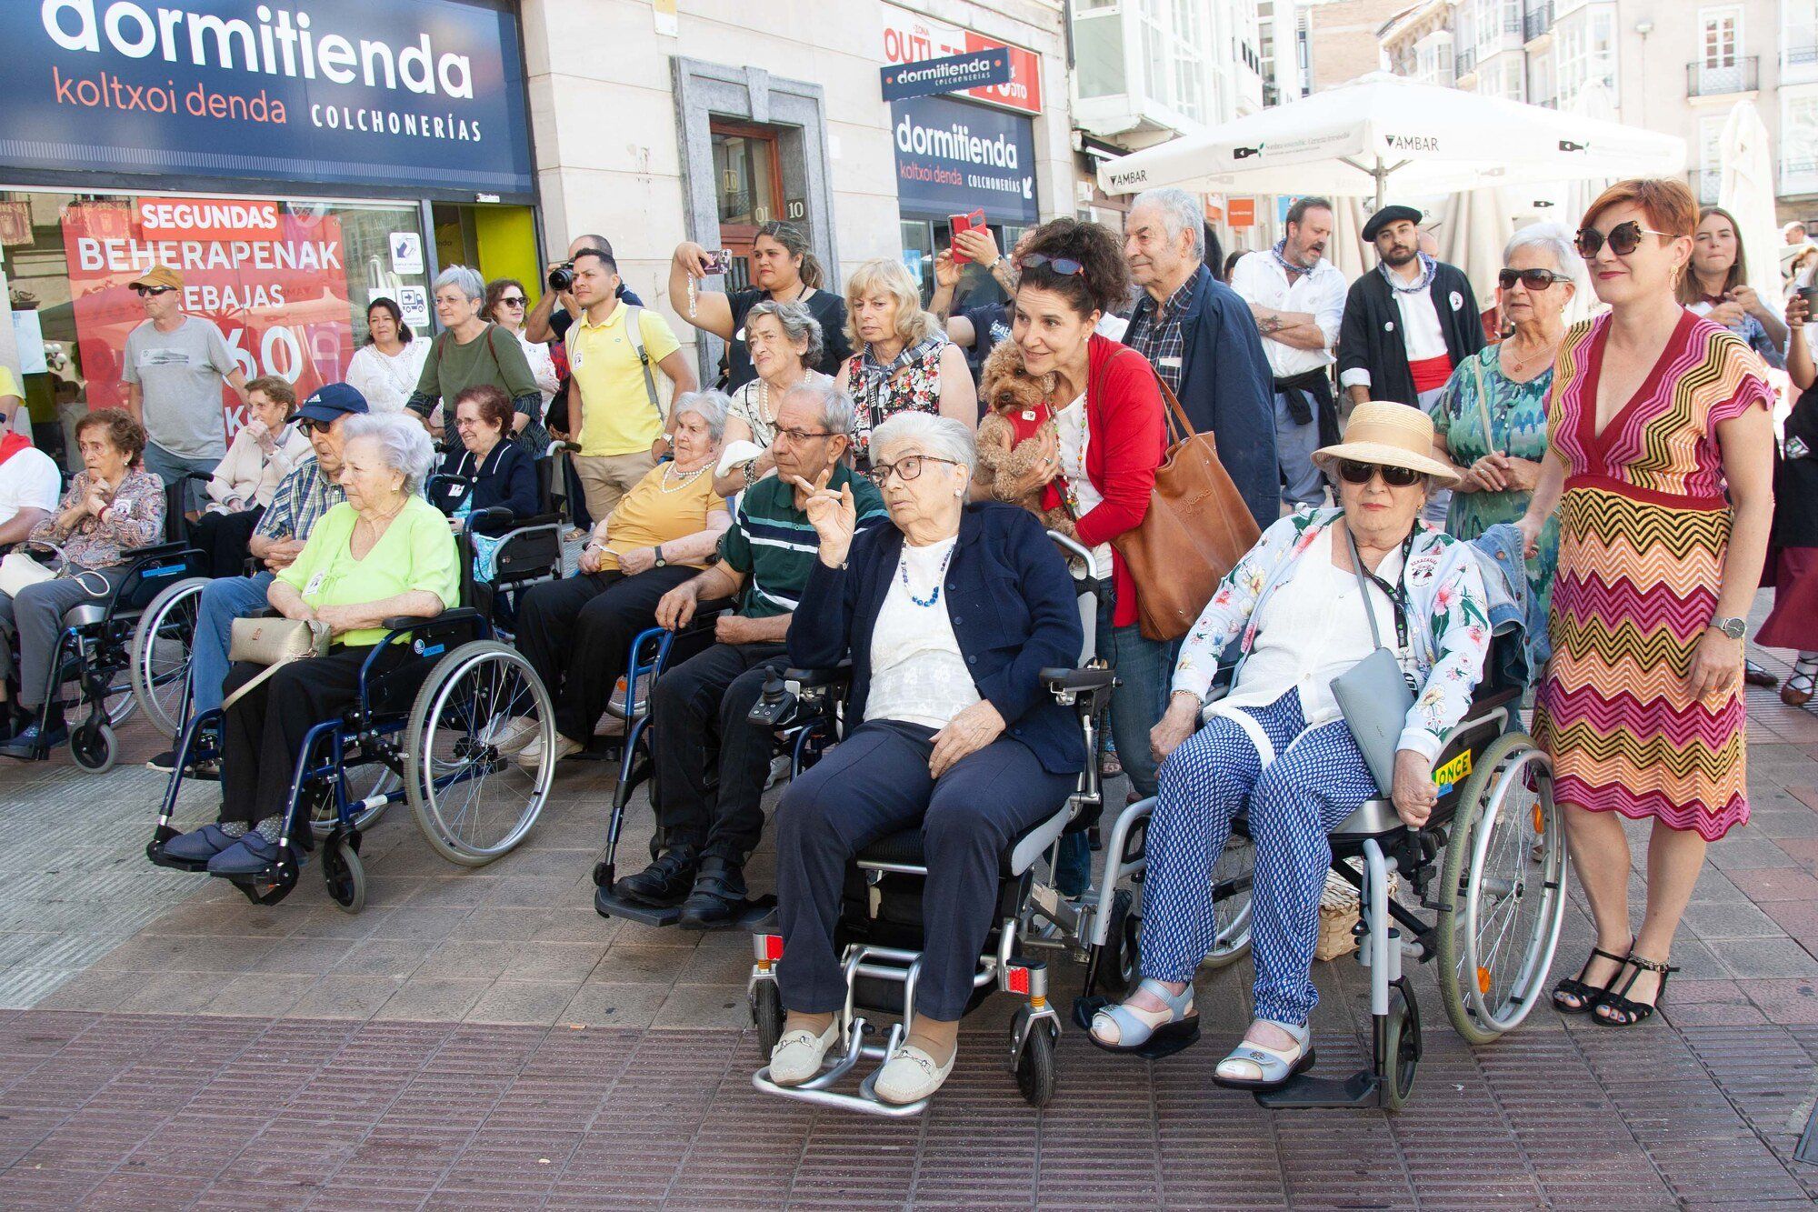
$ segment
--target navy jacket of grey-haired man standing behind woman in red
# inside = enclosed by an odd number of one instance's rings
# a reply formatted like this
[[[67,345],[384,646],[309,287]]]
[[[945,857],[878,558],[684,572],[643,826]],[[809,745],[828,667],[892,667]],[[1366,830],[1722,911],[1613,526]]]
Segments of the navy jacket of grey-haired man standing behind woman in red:
[[[1131,313],[1154,313],[1142,295]],[[1180,317],[1180,408],[1194,433],[1211,431],[1218,462],[1264,530],[1282,515],[1282,471],[1274,457],[1274,375],[1249,304],[1200,266]]]

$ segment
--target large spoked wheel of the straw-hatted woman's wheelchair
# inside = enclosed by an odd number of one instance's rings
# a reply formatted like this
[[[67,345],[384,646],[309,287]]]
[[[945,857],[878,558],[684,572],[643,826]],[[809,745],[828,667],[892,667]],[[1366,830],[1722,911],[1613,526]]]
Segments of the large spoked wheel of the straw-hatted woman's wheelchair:
[[[1440,888],[1445,1017],[1467,1041],[1491,1043],[1540,999],[1565,914],[1553,764],[1525,733],[1493,741],[1460,790]]]

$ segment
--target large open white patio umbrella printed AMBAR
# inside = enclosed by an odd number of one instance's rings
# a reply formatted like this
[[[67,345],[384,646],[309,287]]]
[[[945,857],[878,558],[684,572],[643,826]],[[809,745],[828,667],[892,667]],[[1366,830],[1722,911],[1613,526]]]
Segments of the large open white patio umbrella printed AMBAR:
[[[1098,167],[1105,193],[1182,186],[1200,193],[1387,198],[1507,180],[1662,177],[1685,140],[1480,96],[1383,71],[1325,93],[1144,147]]]

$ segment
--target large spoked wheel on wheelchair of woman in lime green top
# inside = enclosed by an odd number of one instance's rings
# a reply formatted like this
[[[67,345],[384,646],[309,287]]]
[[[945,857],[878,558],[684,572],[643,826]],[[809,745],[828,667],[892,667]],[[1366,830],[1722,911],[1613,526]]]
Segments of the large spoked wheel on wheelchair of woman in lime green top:
[[[514,719],[527,719],[542,739],[534,768],[500,752]],[[404,790],[436,853],[484,866],[524,841],[554,779],[554,737],[549,692],[516,650],[473,641],[442,657],[416,692],[404,732]]]

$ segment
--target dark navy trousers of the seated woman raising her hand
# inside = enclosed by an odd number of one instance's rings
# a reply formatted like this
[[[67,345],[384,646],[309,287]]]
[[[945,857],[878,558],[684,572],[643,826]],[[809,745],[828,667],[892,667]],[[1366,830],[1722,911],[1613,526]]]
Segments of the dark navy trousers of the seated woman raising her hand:
[[[991,932],[1000,855],[1060,812],[1074,777],[1042,768],[1022,741],[1000,737],[929,775],[933,732],[867,721],[784,792],[776,810],[776,919],[784,1006],[831,1014],[845,1005],[833,932],[845,866],[867,844],[920,823],[927,881],[916,1014],[951,1023],[973,995]]]

